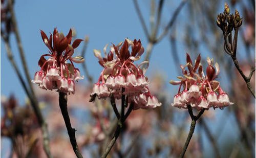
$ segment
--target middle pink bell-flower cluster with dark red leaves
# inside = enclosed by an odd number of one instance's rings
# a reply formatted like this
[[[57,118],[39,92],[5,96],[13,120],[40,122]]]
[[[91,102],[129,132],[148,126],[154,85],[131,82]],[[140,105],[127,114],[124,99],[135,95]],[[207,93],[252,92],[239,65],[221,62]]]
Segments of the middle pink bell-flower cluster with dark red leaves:
[[[94,55],[104,69],[98,82],[94,84],[91,100],[94,100],[96,96],[101,99],[113,95],[115,99],[120,99],[122,95],[126,95],[129,103],[134,103],[134,109],[160,106],[161,103],[157,98],[151,95],[147,77],[144,76],[148,61],[139,65],[134,64],[134,61],[139,60],[144,52],[141,41],[136,39],[131,41],[126,38],[117,46],[113,44],[108,54],[106,47],[108,45],[103,49],[105,54],[103,58],[100,51],[94,50]],[[131,53],[129,48],[131,48]]]

